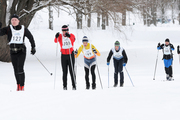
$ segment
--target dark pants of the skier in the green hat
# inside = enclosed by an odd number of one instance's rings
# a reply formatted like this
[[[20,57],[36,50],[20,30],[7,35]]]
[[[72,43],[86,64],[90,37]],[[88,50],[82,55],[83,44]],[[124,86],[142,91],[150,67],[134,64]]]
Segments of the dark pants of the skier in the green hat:
[[[114,83],[118,84],[118,73],[120,73],[120,83],[124,83],[123,63],[124,60],[114,60]]]

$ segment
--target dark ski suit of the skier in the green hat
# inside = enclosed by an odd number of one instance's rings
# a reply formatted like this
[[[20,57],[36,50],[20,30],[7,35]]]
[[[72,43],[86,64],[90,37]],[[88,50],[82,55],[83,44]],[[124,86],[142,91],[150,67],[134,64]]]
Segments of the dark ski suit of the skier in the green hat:
[[[114,54],[113,49],[110,50],[110,52],[109,52],[109,56],[107,58],[108,63],[110,62],[111,57]],[[122,48],[120,48],[120,49],[122,49]],[[120,49],[116,52],[119,52]],[[125,50],[123,49],[123,51],[122,51],[122,58],[117,59],[117,58],[113,57],[113,61],[114,61],[114,83],[115,83],[115,85],[118,84],[118,73],[120,73],[120,83],[123,84],[124,83],[123,63],[127,63],[127,61],[128,61]]]

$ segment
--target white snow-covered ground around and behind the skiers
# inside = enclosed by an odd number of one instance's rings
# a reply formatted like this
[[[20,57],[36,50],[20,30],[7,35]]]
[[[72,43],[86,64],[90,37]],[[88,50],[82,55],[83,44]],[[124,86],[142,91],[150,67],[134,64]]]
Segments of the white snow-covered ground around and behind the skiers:
[[[37,57],[50,72],[55,71],[58,60],[56,89],[54,76],[50,76],[36,58],[30,55],[28,47],[25,64],[26,85],[24,92],[16,92],[13,68],[10,63],[0,62],[0,120],[179,120],[180,111],[180,65],[179,56],[174,51],[174,79],[165,80],[162,52],[159,52],[156,80],[153,80],[157,43],[166,38],[177,47],[180,38],[180,27],[177,25],[159,25],[144,27],[136,24],[124,28],[128,40],[121,33],[111,28],[106,31],[97,28],[75,29],[71,16],[61,13],[60,18],[54,13],[54,30],[48,30],[47,11],[43,9],[36,14],[29,29],[37,44]],[[95,21],[95,20],[94,20]],[[70,32],[77,40],[75,48],[81,45],[84,35],[101,52],[98,57],[101,89],[97,74],[97,90],[85,90],[83,56],[78,59],[77,91],[72,91],[70,77],[68,91],[62,90],[62,72],[60,53],[56,57],[54,36],[63,24],[70,25]],[[127,69],[135,87],[125,72],[125,86],[113,88],[113,62],[110,65],[110,88],[108,88],[108,67],[106,59],[114,42],[119,40],[126,50],[129,61]],[[59,48],[59,46],[58,46]],[[97,73],[97,71],[96,71]],[[91,78],[91,77],[90,77]]]

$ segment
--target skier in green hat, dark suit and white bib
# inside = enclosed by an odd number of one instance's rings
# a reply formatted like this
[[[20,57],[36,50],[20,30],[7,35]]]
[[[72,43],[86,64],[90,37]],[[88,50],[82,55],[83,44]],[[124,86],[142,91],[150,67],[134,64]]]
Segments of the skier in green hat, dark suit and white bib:
[[[124,85],[124,73],[123,66],[125,67],[128,61],[125,50],[120,47],[120,42],[115,42],[115,47],[112,48],[109,52],[107,58],[107,65],[110,65],[111,57],[113,56],[114,61],[114,87],[118,85],[118,73],[120,73],[120,87]]]

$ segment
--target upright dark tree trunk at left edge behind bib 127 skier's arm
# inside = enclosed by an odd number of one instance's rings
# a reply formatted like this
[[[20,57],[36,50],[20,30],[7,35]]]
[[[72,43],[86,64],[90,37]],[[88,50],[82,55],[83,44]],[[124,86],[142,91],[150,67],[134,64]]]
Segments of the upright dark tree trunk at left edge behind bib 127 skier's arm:
[[[0,0],[0,21],[2,22],[2,27],[6,26],[6,0]],[[11,57],[9,53],[9,46],[7,46],[8,41],[6,36],[0,37],[0,61],[10,62]]]

